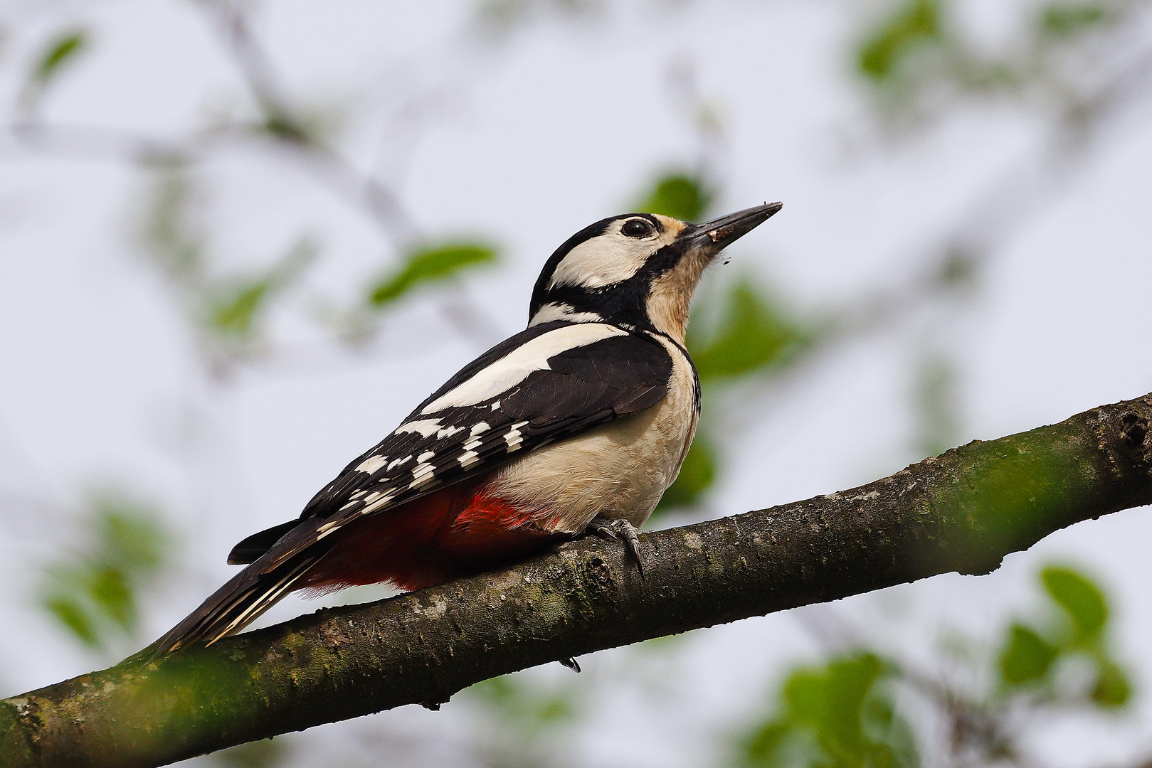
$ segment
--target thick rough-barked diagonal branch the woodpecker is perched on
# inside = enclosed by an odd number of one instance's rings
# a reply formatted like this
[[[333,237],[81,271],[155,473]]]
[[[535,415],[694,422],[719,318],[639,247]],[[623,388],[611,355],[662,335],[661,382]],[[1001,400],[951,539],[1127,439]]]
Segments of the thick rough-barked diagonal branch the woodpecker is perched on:
[[[851,491],[320,610],[0,702],[0,766],[158,766],[601,648],[987,573],[1087,518],[1152,502],[1152,395],[976,441]]]

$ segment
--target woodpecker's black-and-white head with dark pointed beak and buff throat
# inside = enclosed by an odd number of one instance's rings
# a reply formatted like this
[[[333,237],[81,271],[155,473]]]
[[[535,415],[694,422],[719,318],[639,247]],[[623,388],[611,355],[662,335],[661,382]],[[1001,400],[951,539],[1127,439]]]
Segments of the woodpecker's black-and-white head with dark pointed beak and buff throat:
[[[780,208],[768,203],[703,225],[652,213],[597,221],[544,265],[528,325],[602,321],[659,330],[683,343],[688,305],[704,268]]]

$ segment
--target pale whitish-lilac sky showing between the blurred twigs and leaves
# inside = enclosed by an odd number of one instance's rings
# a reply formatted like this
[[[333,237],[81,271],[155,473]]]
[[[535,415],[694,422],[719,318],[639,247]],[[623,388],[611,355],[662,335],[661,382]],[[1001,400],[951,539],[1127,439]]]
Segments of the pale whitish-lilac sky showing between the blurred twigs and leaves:
[[[755,268],[802,312],[905,280],[918,249],[963,211],[999,205],[984,190],[1043,138],[1034,120],[994,108],[961,112],[899,146],[877,140],[863,90],[847,75],[855,3],[620,5],[573,23],[545,17],[487,47],[463,32],[463,2],[267,2],[256,28],[291,94],[343,114],[339,145],[356,165],[388,174],[423,231],[482,234],[505,246],[502,266],[456,295],[488,318],[478,336],[491,341],[524,325],[531,284],[558,244],[627,210],[657,172],[696,157],[667,86],[676,62],[695,71],[723,126],[727,183],[715,211],[785,204],[710,280]],[[0,104],[13,102],[44,39],[84,24],[91,50],[50,94],[51,120],[177,136],[243,108],[195,3],[13,1],[0,5],[0,21],[9,29]],[[427,119],[408,142],[388,120],[414,99]],[[753,426],[730,448],[708,514],[828,493],[917,459],[908,393],[925,340],[958,364],[963,441],[1152,389],[1146,117],[1145,106],[1119,121],[1064,185],[1044,182],[1053,193],[998,250],[970,303],[839,347],[751,398]],[[382,152],[381,136],[395,139]],[[256,264],[310,234],[321,259],[309,291],[274,324],[290,355],[210,383],[170,294],[134,244],[146,178],[120,162],[30,152],[7,136],[0,159],[0,491],[61,509],[109,482],[157,500],[182,532],[183,568],[146,606],[150,639],[228,577],[235,541],[295,517],[483,350],[444,320],[440,294],[389,314],[364,352],[331,351],[306,319],[316,296],[348,301],[389,263],[389,244],[308,173],[240,149],[204,168],[213,252]],[[5,516],[0,561],[16,585],[0,596],[7,694],[103,663],[35,604],[30,575],[69,546],[67,516],[17,509]],[[772,694],[787,663],[820,656],[811,628],[821,611],[857,622],[880,647],[930,659],[945,625],[995,638],[1037,602],[1034,573],[1055,558],[1109,588],[1139,701],[1119,723],[1054,723],[1040,753],[1054,768],[1142,759],[1152,753],[1152,737],[1140,733],[1152,731],[1140,693],[1152,684],[1150,534],[1145,510],[1130,510],[1059,532],[991,576],[947,575],[696,632],[673,661],[638,649],[582,659],[589,685],[624,666],[639,672],[596,702],[596,730],[574,748],[589,766],[702,765],[717,735]],[[314,607],[288,600],[263,623]],[[584,679],[555,664],[538,675]],[[455,702],[441,713],[409,707],[297,738],[350,750],[346,743],[369,743],[378,727],[450,742],[471,727],[467,714]],[[306,760],[302,752],[300,765]]]

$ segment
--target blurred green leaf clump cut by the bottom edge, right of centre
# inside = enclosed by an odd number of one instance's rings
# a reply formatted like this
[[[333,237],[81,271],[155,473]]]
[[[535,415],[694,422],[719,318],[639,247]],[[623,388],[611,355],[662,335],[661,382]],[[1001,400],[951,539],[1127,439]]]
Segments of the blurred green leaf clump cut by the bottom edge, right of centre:
[[[896,714],[888,682],[899,674],[872,653],[793,670],[776,716],[741,742],[736,763],[788,768],[912,768],[908,723]]]

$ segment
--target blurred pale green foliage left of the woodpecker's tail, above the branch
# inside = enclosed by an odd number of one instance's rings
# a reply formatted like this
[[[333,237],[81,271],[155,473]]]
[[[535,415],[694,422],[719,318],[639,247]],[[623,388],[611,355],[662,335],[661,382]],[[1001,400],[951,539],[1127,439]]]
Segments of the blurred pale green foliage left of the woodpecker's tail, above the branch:
[[[131,637],[136,594],[166,562],[168,534],[154,510],[119,496],[97,500],[85,547],[47,565],[40,604],[81,642],[107,648]]]

